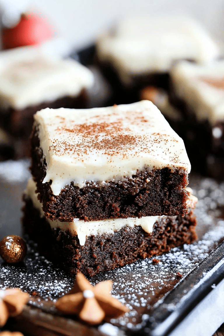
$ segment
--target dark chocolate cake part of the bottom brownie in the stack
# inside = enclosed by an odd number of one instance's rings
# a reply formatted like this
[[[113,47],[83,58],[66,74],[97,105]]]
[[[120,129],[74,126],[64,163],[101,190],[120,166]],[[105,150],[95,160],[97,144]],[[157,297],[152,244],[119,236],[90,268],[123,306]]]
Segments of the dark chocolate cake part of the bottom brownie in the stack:
[[[56,265],[76,274],[87,276],[111,270],[135,260],[156,256],[184,243],[196,239],[196,219],[193,211],[182,217],[160,218],[153,226],[151,234],[140,226],[124,226],[114,234],[102,234],[86,238],[85,245],[79,244],[77,236],[72,237],[60,229],[51,229],[44,217],[26,202],[23,211],[23,227],[30,239],[38,243],[39,252]]]

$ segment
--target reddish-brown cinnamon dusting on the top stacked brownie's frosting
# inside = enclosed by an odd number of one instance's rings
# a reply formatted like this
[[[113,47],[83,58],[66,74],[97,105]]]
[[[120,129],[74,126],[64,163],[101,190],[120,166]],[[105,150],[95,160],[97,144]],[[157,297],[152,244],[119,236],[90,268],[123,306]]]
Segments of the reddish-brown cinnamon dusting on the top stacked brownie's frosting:
[[[114,106],[117,107],[117,106]],[[131,117],[130,117],[131,114]],[[68,120],[62,118],[61,116],[55,116],[60,118],[60,126],[54,129],[55,134],[65,135],[71,140],[73,134],[79,135],[78,141],[62,141],[58,143],[58,139],[54,138],[52,145],[50,145],[49,150],[53,150],[55,155],[61,156],[65,155],[65,152],[71,152],[72,155],[82,156],[82,154],[87,155],[87,153],[92,153],[93,150],[101,151],[102,154],[108,156],[115,156],[121,154],[123,157],[130,155],[130,151],[134,151],[136,145],[140,146],[140,151],[152,152],[151,146],[148,146],[148,141],[154,143],[167,143],[168,141],[178,142],[175,138],[172,138],[169,134],[162,133],[152,133],[150,139],[144,133],[133,134],[130,127],[126,127],[125,124],[132,122],[138,126],[138,128],[144,131],[145,127],[154,127],[151,123],[150,118],[146,119],[142,115],[142,111],[126,111],[123,118],[117,117],[117,113],[107,114],[106,116],[97,115],[94,116],[96,122],[91,122],[91,117],[86,119],[84,123],[77,123],[74,120],[70,120],[70,127],[68,128]],[[115,118],[116,121],[106,122],[104,119]],[[125,122],[126,121],[126,122]],[[148,125],[146,125],[146,123]],[[130,135],[130,134],[133,135]],[[169,140],[167,139],[169,138]],[[134,151],[137,155],[138,152]],[[177,158],[173,158],[177,162]]]

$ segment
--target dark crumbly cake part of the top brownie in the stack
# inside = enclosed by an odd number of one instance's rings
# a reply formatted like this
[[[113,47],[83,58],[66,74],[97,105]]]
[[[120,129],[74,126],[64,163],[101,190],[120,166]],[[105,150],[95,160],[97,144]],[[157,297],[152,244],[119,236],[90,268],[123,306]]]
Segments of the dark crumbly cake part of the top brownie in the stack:
[[[50,182],[42,183],[46,163],[36,129],[33,130],[31,143],[31,172],[37,183],[43,211],[50,220],[72,222],[74,218],[102,220],[188,213],[188,192],[185,189],[188,177],[182,169],[144,169],[122,181],[110,181],[103,185],[89,181],[83,188],[74,186],[72,182],[55,196]]]

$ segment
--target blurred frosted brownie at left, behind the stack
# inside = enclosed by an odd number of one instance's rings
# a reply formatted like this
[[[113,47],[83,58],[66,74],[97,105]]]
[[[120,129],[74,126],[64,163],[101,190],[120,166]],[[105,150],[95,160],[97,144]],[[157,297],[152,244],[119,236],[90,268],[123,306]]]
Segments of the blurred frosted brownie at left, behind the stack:
[[[84,108],[92,73],[72,59],[60,59],[41,48],[0,53],[0,124],[27,155],[33,115],[46,107]],[[16,146],[15,146],[16,148]]]

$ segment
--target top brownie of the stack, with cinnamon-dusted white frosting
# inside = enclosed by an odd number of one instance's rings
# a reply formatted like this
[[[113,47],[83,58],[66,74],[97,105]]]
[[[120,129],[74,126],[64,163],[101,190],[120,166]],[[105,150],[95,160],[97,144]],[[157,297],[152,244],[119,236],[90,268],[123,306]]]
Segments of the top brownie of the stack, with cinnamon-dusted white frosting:
[[[186,214],[183,140],[149,101],[34,116],[31,171],[51,220]]]

